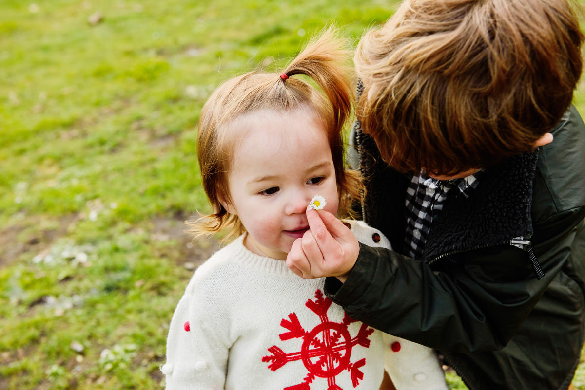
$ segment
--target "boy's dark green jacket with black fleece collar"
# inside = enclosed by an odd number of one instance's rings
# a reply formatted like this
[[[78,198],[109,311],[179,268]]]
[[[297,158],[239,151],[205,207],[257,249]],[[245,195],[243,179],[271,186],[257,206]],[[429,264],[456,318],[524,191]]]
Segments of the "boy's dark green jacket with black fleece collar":
[[[326,294],[354,319],[438,349],[472,390],[566,389],[585,320],[585,125],[574,107],[552,133],[484,170],[468,198],[455,189],[421,261],[400,253],[408,178],[358,131],[364,220],[396,252],[360,246]],[[531,246],[512,245],[522,238]]]

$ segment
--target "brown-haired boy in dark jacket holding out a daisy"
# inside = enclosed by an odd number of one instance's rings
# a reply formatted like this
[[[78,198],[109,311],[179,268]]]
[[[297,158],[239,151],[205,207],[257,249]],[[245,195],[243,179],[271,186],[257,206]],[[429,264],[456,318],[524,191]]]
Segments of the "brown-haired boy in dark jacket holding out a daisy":
[[[472,390],[567,389],[585,321],[582,40],[566,0],[404,1],[355,58],[363,217],[395,252],[309,210],[291,270],[328,276],[352,318],[438,349]]]

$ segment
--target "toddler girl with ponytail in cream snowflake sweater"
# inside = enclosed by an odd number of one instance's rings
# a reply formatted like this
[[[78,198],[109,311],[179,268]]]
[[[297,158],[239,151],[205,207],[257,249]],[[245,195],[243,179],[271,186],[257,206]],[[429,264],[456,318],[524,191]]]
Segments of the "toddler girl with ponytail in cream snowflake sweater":
[[[309,231],[309,201],[318,195],[315,208],[343,217],[358,196],[358,176],[343,168],[346,54],[328,30],[282,74],[230,79],[203,107],[197,152],[214,214],[194,232],[235,239],[197,269],[178,303],[161,367],[167,389],[380,388],[383,334],[328,300],[323,279],[299,278],[285,262]],[[346,223],[360,241],[389,248],[379,231]],[[391,343],[396,354],[409,345]],[[409,362],[402,372],[413,375],[398,388],[445,389],[432,351],[418,347],[425,357]]]

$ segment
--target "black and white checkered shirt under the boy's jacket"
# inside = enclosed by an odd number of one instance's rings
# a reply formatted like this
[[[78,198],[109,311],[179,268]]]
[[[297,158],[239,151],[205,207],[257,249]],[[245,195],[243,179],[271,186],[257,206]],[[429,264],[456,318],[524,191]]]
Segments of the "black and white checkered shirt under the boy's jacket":
[[[421,259],[425,250],[426,236],[431,229],[433,218],[441,212],[448,197],[449,190],[457,187],[463,196],[479,183],[480,171],[453,180],[437,180],[426,176],[413,175],[406,190],[407,228],[404,241],[405,254],[414,259]]]

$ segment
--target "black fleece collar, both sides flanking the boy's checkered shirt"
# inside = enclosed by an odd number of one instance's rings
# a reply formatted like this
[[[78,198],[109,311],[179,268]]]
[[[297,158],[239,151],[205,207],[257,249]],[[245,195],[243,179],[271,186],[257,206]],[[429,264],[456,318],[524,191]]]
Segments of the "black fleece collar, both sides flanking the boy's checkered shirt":
[[[400,252],[404,242],[404,197],[407,176],[388,168],[371,137],[357,132],[360,170],[366,184],[364,221],[388,236]],[[506,159],[487,168],[479,185],[464,197],[450,194],[433,221],[423,260],[509,243],[532,234],[532,188],[538,151]]]

